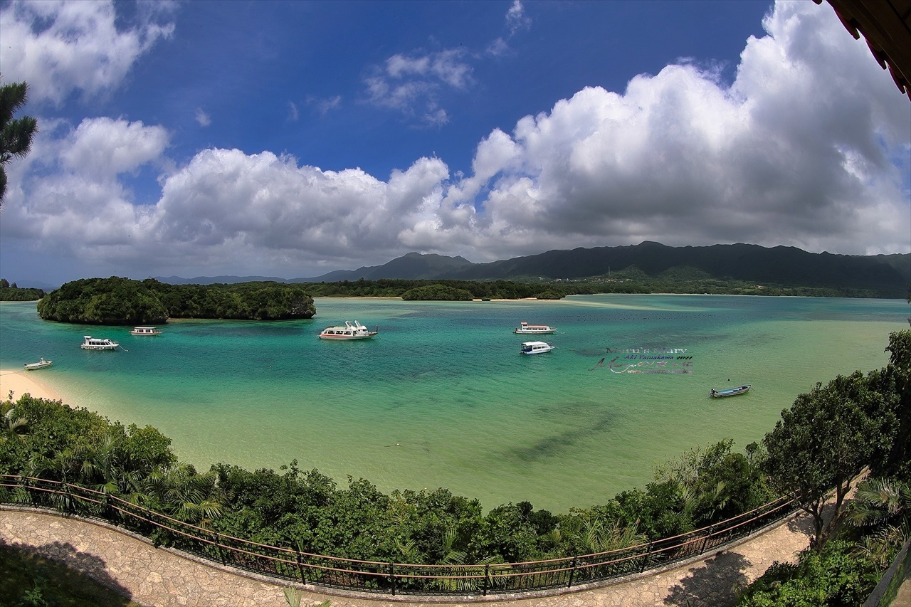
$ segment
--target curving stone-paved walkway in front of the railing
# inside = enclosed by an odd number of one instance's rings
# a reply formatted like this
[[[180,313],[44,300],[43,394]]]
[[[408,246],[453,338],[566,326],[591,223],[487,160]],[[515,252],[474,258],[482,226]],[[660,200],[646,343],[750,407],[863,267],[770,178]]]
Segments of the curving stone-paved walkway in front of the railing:
[[[705,561],[615,583],[594,590],[533,599],[484,602],[401,602],[366,600],[302,591],[302,606],[330,601],[332,607],[724,607],[738,588],[749,584],[773,561],[793,561],[808,544],[809,521],[789,520]],[[285,607],[281,583],[243,575],[156,549],[146,540],[116,528],[26,510],[0,509],[0,541],[36,550],[43,556],[91,575],[143,605],[169,607]]]

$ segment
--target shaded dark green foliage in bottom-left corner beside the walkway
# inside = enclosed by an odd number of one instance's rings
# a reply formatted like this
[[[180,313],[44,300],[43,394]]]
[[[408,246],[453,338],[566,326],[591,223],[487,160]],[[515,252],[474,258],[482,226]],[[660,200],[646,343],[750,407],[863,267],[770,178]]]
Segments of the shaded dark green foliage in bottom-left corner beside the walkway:
[[[90,564],[85,556],[80,562],[82,566]],[[104,567],[102,562],[95,565],[96,569]],[[139,607],[125,596],[128,591],[122,590],[115,592],[85,573],[0,542],[0,603],[4,605]]]

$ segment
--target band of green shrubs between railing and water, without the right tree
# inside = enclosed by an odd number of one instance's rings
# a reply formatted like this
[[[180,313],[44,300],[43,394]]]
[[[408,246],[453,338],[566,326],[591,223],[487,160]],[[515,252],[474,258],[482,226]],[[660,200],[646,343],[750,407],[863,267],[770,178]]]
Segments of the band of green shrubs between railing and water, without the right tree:
[[[675,535],[770,498],[732,441],[671,462],[645,489],[567,514],[507,503],[485,514],[448,489],[384,494],[363,478],[339,487],[297,462],[206,473],[177,461],[154,427],[124,427],[84,408],[22,396],[0,403],[0,473],[105,491],[228,535],[370,561],[477,563],[572,556]],[[167,539],[163,541],[169,541]]]

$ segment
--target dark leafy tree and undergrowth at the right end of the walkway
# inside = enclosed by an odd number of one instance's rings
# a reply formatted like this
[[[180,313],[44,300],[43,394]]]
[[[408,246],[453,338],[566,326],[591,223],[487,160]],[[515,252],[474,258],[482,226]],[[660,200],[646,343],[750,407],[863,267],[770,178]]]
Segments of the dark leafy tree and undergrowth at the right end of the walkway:
[[[743,592],[740,607],[860,605],[911,535],[906,423],[911,416],[911,331],[889,335],[889,364],[817,384],[782,412],[754,455],[780,489],[814,518],[814,538],[796,565],[774,563]],[[851,479],[869,467],[878,478]],[[822,516],[834,493],[834,509]],[[826,524],[824,521],[828,520]]]

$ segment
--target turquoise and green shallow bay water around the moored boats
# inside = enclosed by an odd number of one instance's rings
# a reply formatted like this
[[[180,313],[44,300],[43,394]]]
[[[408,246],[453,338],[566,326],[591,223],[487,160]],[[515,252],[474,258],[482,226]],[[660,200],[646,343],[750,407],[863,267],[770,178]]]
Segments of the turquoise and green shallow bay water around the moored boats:
[[[316,309],[309,321],[171,321],[162,335],[138,337],[130,327],[47,323],[34,303],[5,303],[0,366],[53,360],[36,377],[65,402],[158,427],[200,469],[296,458],[340,485],[351,475],[386,492],[446,487],[485,509],[528,500],[565,512],[642,487],[685,449],[724,437],[742,449],[763,437],[815,382],[885,365],[888,334],[908,328],[909,314],[904,300],[711,295],[321,298]],[[380,334],[316,337],[344,320]],[[512,334],[523,320],[558,333]],[[86,352],[84,334],[128,352]],[[519,355],[532,339],[557,349]],[[661,368],[625,358],[662,348],[691,359]],[[746,395],[707,396],[746,383]]]

